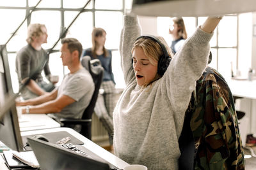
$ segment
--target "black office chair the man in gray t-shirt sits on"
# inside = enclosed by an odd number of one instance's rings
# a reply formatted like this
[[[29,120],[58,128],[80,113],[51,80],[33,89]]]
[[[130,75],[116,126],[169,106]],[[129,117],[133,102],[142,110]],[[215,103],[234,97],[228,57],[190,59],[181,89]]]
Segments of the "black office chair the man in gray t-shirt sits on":
[[[93,82],[95,84],[92,99],[90,104],[84,110],[81,119],[61,118],[60,122],[63,124],[63,127],[67,125],[81,125],[80,134],[88,139],[92,139],[92,114],[99,94],[100,85],[102,83],[104,68],[101,66],[99,59],[91,60],[91,58],[87,56],[82,58],[81,64],[92,75]]]

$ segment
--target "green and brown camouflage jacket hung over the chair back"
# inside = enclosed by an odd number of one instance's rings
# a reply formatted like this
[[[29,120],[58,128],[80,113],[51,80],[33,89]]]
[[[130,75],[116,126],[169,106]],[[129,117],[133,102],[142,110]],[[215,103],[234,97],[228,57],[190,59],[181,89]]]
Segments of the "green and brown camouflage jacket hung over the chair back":
[[[234,99],[215,69],[207,67],[196,81],[188,114],[195,139],[194,169],[244,169]]]

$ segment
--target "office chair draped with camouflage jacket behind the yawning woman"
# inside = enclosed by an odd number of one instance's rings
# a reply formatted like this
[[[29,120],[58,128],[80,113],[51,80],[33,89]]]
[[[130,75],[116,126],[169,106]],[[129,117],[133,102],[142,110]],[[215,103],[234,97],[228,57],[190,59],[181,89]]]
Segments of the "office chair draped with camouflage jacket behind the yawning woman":
[[[230,125],[230,134],[225,131],[227,124]],[[212,125],[216,125],[215,130]],[[238,159],[243,152],[241,136],[236,131],[239,129],[232,93],[224,78],[211,67],[207,67],[196,81],[196,90],[193,91],[186,110],[179,138],[179,169],[189,170],[198,166],[207,169],[209,162],[205,157],[208,156],[209,161],[214,161],[214,155],[218,154],[223,156],[223,160],[227,159],[225,163],[230,167],[228,162]],[[236,146],[229,142],[236,143]],[[233,152],[236,154],[228,158]],[[237,162],[234,166],[243,167],[243,162]]]

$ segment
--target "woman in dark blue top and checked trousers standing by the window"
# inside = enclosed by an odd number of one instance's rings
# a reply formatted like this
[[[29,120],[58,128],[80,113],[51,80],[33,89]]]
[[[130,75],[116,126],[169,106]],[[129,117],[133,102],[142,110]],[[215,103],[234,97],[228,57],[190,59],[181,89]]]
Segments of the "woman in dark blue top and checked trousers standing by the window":
[[[83,56],[90,56],[91,59],[99,59],[104,67],[104,76],[100,89],[104,94],[99,94],[95,105],[95,113],[102,121],[102,124],[109,133],[109,143],[113,144],[113,110],[115,108],[115,80],[112,73],[112,53],[105,48],[106,31],[102,28],[95,28],[92,31],[92,48],[88,48]]]

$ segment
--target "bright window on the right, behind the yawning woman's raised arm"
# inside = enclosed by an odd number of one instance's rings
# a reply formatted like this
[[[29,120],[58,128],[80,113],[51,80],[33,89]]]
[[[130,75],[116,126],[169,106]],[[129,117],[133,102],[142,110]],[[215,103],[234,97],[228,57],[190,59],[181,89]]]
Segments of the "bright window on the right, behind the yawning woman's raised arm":
[[[206,17],[183,17],[188,37]],[[172,43],[168,34],[170,17],[157,18],[157,33]],[[212,62],[209,66],[217,69],[225,78],[230,78],[231,71],[240,76],[247,76],[251,67],[252,56],[252,13],[227,15],[223,17],[210,42]],[[239,64],[238,64],[239,63]]]

